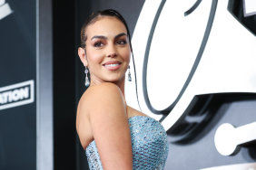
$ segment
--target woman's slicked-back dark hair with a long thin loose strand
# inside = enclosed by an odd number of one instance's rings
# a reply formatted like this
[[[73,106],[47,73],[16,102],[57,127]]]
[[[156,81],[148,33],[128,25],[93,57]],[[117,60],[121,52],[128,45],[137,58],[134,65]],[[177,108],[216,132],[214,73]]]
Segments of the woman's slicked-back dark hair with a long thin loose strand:
[[[113,10],[113,9],[106,9],[106,10],[103,10],[103,11],[97,11],[97,12],[91,14],[89,16],[89,18],[84,22],[82,30],[81,30],[81,47],[84,49],[84,52],[86,52],[85,51],[85,47],[86,47],[85,42],[87,40],[87,35],[86,35],[87,26],[89,26],[91,24],[94,24],[96,21],[102,19],[103,17],[114,17],[114,18],[118,19],[119,21],[121,21],[124,24],[124,26],[127,30],[127,38],[128,38],[130,48],[131,48],[131,52],[132,52],[132,56],[133,56],[133,48],[132,48],[131,35],[130,35],[129,28],[128,28],[125,20],[123,19],[123,16],[120,13],[118,13],[116,10]],[[139,99],[138,99],[138,92],[137,92],[137,78],[136,78],[134,57],[133,57],[133,68],[134,68],[135,85],[136,85],[136,96],[137,96],[139,108],[141,109]]]

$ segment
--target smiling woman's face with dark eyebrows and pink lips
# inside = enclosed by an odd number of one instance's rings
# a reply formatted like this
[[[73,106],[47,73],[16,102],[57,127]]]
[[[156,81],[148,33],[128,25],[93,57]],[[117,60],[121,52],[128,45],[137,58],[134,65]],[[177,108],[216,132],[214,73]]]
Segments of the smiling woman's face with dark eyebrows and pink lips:
[[[123,23],[116,18],[104,17],[89,25],[86,34],[86,54],[84,53],[83,56],[80,52],[84,50],[80,49],[79,56],[88,66],[91,80],[94,82],[122,80],[131,54]]]

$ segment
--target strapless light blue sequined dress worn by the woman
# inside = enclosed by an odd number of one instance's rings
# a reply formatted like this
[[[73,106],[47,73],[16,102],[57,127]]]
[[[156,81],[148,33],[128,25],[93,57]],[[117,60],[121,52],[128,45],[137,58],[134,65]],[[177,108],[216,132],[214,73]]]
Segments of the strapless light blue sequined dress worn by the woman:
[[[155,119],[134,116],[128,119],[133,146],[133,170],[162,170],[169,144],[162,125]],[[90,170],[103,170],[95,141],[86,147]]]

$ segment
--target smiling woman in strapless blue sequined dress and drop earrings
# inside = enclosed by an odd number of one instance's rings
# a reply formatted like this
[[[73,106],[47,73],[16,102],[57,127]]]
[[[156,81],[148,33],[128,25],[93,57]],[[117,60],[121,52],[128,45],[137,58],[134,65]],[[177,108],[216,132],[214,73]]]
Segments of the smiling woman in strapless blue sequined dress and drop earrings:
[[[162,125],[125,101],[133,50],[122,15],[114,10],[92,14],[83,25],[81,44],[85,85],[88,70],[91,81],[78,104],[76,129],[90,169],[163,169],[169,145]]]

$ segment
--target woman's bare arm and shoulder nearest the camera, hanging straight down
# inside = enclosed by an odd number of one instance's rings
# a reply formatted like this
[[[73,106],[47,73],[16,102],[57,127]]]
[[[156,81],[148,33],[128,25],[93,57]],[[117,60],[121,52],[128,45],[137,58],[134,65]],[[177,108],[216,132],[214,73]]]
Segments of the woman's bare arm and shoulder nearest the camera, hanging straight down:
[[[132,142],[121,90],[107,82],[88,92],[84,107],[88,111],[103,169],[132,170]]]

